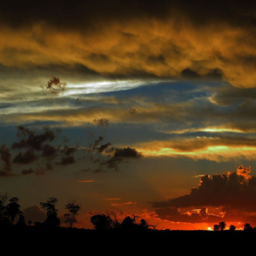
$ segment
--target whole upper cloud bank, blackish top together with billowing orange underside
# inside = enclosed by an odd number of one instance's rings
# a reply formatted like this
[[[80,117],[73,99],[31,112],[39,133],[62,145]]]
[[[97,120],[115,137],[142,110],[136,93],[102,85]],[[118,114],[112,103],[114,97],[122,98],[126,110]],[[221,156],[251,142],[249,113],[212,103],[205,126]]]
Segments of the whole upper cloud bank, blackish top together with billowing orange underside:
[[[222,77],[251,88],[253,10],[253,1],[10,1],[1,3],[0,64],[83,67],[107,77]]]

